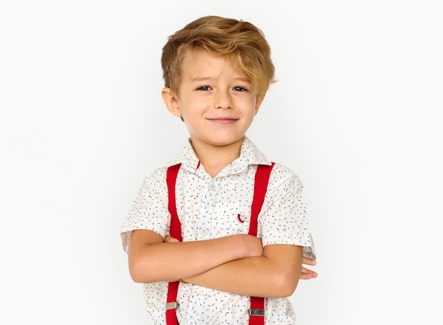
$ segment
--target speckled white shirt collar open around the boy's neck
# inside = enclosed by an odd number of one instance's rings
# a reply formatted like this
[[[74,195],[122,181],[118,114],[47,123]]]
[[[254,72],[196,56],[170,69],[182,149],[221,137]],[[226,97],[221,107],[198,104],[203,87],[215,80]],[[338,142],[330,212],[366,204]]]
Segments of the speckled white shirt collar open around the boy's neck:
[[[195,171],[200,167],[200,161],[198,160],[197,155],[195,155],[190,138],[188,138],[180,153],[167,162],[165,167],[176,165],[178,163],[181,163],[182,167],[189,171]],[[229,166],[226,166],[224,170],[219,173],[219,176],[237,174],[238,172],[246,170],[246,167],[249,165],[271,165],[271,161],[267,159],[267,157],[258,150],[251,139],[246,136],[241,144],[240,157],[231,162]]]

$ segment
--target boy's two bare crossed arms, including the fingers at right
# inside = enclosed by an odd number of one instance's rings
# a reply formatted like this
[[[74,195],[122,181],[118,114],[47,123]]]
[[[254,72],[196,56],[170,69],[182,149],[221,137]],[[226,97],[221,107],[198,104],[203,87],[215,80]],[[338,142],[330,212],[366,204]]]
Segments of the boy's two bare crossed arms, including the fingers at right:
[[[176,281],[202,285],[238,295],[289,297],[299,279],[317,273],[302,264],[315,261],[302,256],[302,247],[272,244],[262,247],[251,235],[229,235],[212,240],[163,240],[151,230],[132,231],[128,250],[132,280],[137,283]]]

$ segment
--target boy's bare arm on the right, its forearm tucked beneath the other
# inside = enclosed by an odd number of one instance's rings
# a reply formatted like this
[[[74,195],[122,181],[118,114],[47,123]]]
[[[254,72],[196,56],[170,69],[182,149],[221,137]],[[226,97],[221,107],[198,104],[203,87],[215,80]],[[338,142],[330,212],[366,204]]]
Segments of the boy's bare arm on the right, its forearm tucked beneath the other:
[[[230,261],[186,282],[208,288],[255,297],[289,297],[301,278],[302,248],[272,244],[263,256]]]

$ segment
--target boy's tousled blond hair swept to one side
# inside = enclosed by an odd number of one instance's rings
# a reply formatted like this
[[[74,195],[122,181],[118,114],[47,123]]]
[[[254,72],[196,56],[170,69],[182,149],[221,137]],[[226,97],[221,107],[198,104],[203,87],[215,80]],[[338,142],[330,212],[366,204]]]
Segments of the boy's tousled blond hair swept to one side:
[[[270,46],[260,29],[243,20],[205,16],[168,37],[161,55],[165,87],[178,91],[185,57],[201,49],[226,57],[244,71],[251,78],[253,95],[266,93],[275,82]]]

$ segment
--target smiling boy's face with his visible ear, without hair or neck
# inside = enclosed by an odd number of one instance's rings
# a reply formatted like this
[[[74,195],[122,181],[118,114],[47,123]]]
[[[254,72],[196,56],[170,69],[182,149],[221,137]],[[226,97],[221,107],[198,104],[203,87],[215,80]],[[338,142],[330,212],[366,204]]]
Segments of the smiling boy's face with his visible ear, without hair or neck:
[[[246,74],[224,57],[197,51],[183,62],[178,94],[163,89],[170,112],[182,117],[194,146],[228,146],[243,138],[264,94],[252,95]]]

